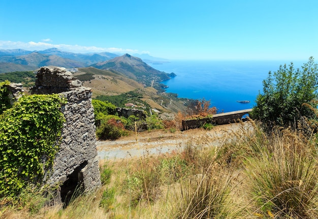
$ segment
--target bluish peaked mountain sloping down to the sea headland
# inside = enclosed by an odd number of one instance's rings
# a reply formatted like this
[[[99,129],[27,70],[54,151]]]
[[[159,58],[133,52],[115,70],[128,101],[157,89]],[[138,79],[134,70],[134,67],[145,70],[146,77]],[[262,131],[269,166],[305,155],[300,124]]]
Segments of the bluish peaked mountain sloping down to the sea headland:
[[[142,61],[141,58],[124,54],[113,59],[98,62],[92,67],[104,70],[113,70],[122,75],[142,82],[146,86],[153,86],[156,89],[162,89],[165,85],[160,82],[171,78],[171,74],[158,71]]]

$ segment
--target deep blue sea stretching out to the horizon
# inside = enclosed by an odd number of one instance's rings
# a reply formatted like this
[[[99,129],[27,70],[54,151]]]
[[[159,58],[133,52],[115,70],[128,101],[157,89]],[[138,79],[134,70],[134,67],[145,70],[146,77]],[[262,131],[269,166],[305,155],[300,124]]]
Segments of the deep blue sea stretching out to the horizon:
[[[162,65],[150,64],[154,69],[177,76],[164,81],[166,91],[179,98],[210,100],[219,112],[249,109],[256,105],[262,81],[269,71],[277,71],[287,61],[171,61]],[[299,62],[298,66],[304,62]],[[294,66],[298,67],[294,62]],[[238,103],[237,101],[250,101]]]

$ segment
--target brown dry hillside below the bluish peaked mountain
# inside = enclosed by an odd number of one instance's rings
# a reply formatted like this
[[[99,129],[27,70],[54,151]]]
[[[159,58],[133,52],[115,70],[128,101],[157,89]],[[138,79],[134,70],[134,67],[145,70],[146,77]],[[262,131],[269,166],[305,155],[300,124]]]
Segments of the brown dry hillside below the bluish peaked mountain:
[[[163,112],[162,116],[172,116],[171,112],[184,111],[191,102],[188,99],[177,98],[177,95],[173,93],[162,93],[153,87],[145,87],[143,84],[113,70],[92,67],[79,68],[78,70],[74,76],[84,81],[84,86],[93,89],[93,98],[105,99],[101,96],[118,96],[134,91],[134,93],[138,93],[140,102],[160,110]],[[129,100],[126,100],[126,103],[129,103]]]

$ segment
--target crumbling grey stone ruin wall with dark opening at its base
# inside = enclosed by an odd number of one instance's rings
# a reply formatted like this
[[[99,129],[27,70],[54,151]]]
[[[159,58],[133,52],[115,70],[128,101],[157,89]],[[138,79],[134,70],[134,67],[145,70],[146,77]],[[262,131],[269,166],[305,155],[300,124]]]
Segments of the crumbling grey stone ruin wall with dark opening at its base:
[[[59,93],[68,100],[61,109],[66,122],[60,148],[52,170],[44,178],[50,186],[60,185],[55,203],[67,205],[75,191],[90,192],[101,186],[92,91],[65,68],[42,67],[31,93]]]

